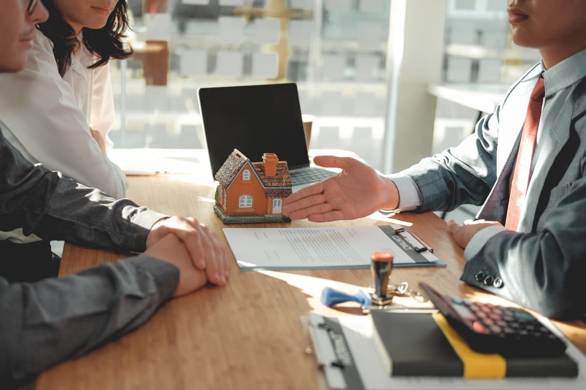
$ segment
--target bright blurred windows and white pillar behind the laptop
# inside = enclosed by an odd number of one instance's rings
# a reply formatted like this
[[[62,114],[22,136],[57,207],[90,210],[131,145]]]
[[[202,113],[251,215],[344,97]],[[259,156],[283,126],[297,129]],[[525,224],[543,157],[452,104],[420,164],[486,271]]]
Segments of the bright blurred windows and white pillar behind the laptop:
[[[205,149],[199,87],[295,82],[312,149],[389,173],[459,143],[539,61],[510,41],[506,0],[128,5],[135,54],[111,65],[122,149]]]

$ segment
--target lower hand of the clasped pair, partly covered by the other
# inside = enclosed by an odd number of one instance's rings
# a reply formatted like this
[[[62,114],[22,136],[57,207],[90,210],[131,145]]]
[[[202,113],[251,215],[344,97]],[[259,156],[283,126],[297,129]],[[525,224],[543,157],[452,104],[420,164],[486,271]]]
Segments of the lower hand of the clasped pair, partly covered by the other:
[[[189,253],[175,234],[167,234],[161,240],[156,241],[144,251],[148,256],[166,261],[179,268],[179,284],[173,296],[189,294],[203,287],[206,282],[206,274],[193,266]]]

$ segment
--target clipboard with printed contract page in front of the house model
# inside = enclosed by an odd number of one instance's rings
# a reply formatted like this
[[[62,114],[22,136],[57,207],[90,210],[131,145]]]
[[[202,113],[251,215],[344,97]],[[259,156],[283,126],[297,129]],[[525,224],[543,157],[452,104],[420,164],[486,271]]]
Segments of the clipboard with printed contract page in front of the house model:
[[[373,251],[394,255],[393,265],[445,265],[431,251],[415,251],[387,226],[224,228],[243,270],[368,268]]]

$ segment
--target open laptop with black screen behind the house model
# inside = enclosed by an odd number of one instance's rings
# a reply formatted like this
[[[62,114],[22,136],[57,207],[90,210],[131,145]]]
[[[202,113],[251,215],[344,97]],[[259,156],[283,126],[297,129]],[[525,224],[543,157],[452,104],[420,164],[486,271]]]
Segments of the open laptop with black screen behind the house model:
[[[295,83],[202,87],[197,97],[212,175],[234,149],[253,163],[263,153],[287,161],[293,191],[336,174],[309,166]]]

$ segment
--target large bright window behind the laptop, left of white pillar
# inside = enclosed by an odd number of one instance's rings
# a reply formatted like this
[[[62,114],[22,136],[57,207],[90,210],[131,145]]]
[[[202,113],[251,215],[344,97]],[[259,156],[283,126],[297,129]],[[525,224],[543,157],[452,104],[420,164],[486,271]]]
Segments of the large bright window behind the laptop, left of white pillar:
[[[312,149],[381,167],[388,0],[128,0],[128,10],[135,55],[111,61],[115,147],[204,149],[197,88],[289,81],[316,117]]]

